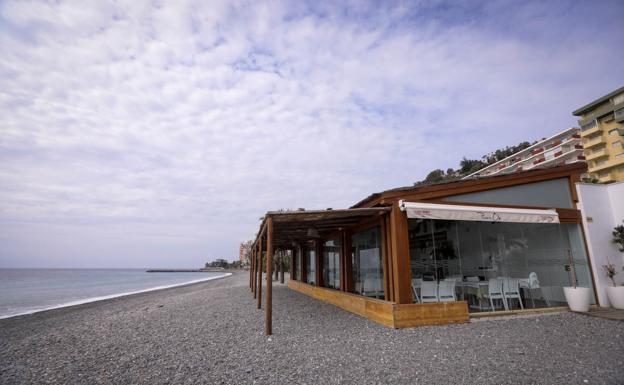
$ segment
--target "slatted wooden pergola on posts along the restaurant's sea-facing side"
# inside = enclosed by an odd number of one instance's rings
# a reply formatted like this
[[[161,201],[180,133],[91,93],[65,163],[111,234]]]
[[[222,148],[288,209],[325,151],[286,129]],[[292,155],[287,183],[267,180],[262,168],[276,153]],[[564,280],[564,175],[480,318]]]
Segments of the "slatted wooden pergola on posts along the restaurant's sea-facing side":
[[[273,254],[276,249],[293,250],[297,245],[341,231],[367,219],[376,219],[390,207],[344,210],[269,211],[260,225],[252,246],[249,287],[258,309],[262,307],[262,252],[266,252],[265,334],[272,334]],[[265,249],[263,249],[263,247]],[[317,258],[317,263],[319,258]],[[344,268],[341,269],[344,271]],[[317,274],[320,270],[317,269]],[[342,281],[342,280],[341,280]]]

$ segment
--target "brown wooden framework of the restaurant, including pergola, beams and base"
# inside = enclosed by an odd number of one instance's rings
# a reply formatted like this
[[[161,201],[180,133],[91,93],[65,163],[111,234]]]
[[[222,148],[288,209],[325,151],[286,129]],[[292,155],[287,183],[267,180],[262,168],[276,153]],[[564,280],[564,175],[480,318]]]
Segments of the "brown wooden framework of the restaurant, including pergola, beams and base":
[[[260,309],[261,265],[263,253],[266,253],[265,333],[272,334],[272,270],[275,250],[289,250],[293,258],[291,277],[288,280],[290,289],[385,326],[404,328],[468,322],[468,303],[465,300],[435,303],[413,301],[409,224],[405,206],[401,202],[412,205],[445,205],[447,209],[452,205],[473,208],[548,209],[557,212],[560,223],[578,225],[581,223],[581,213],[576,206],[578,196],[574,183],[580,180],[580,175],[586,171],[586,167],[584,164],[570,164],[487,178],[408,186],[372,194],[349,209],[267,212],[252,246],[249,272],[249,286]],[[530,186],[533,183],[551,180],[566,181],[565,184],[560,184],[559,186],[563,187],[559,188],[568,190],[570,205],[541,207],[514,202],[484,203],[468,199],[469,195],[474,193]],[[447,199],[458,196],[462,198]],[[359,265],[355,263],[361,260],[357,260],[358,257],[354,254],[353,237],[373,229],[379,245],[376,257],[379,257],[383,276],[379,277],[383,279],[383,290],[377,291],[383,293],[381,295],[365,295],[361,277],[354,274],[354,269],[359,269]],[[325,245],[328,241],[335,243],[331,246]],[[326,247],[337,248],[332,252],[339,253],[339,276],[333,275],[333,284],[324,282],[326,277],[323,270],[327,269],[327,266],[323,261],[323,251]],[[316,256],[314,264],[310,260],[312,252]],[[295,260],[297,263],[294,263]],[[296,271],[293,268],[295,265]],[[312,272],[315,275],[312,275]],[[329,275],[327,278],[332,279]]]

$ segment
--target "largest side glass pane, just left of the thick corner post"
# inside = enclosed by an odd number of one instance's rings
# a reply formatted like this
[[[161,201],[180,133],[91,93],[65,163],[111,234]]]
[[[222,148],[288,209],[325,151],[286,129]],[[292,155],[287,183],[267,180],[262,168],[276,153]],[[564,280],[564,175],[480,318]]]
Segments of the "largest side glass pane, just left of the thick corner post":
[[[353,234],[351,247],[354,292],[384,298],[381,228],[377,226]]]

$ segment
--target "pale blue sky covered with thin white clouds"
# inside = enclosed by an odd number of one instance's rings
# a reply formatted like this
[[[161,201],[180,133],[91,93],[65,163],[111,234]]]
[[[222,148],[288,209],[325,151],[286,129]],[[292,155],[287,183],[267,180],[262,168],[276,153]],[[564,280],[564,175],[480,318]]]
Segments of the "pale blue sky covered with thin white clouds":
[[[0,1],[0,267],[199,267],[576,125],[624,2]]]

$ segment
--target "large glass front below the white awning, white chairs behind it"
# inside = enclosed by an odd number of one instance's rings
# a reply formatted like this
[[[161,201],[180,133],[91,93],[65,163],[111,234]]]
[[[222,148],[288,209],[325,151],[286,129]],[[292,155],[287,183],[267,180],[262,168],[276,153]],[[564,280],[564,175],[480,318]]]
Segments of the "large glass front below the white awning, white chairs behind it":
[[[470,311],[564,306],[574,258],[591,287],[579,225],[409,219],[415,301],[468,301]]]

